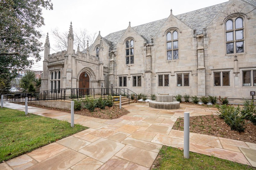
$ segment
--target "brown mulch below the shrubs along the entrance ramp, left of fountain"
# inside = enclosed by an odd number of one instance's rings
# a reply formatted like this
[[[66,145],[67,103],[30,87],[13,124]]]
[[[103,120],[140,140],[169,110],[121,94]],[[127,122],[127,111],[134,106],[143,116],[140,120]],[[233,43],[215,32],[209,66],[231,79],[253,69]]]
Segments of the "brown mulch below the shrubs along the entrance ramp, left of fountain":
[[[12,102],[12,103],[25,105],[25,102]],[[36,105],[32,103],[28,103],[28,106],[70,113],[70,110],[41,106],[41,105]],[[92,116],[92,117],[97,117],[101,119],[117,119],[123,115],[128,114],[129,111],[124,108],[119,109],[119,106],[114,105],[112,107],[105,107],[105,109],[95,108],[93,112],[87,109],[81,109],[81,110],[74,111],[74,113],[77,115]]]

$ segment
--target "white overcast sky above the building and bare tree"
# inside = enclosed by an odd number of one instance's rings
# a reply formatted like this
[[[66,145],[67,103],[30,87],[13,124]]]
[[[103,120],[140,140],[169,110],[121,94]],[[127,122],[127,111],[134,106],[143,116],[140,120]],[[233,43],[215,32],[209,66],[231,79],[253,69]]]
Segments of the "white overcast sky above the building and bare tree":
[[[45,26],[41,27],[42,40],[45,42],[46,33],[49,33],[51,47],[54,47],[54,38],[51,30],[58,27],[60,32],[69,30],[72,21],[73,30],[86,28],[89,33],[100,31],[106,36],[131,26],[138,26],[148,22],[167,18],[172,9],[173,15],[198,10],[208,6],[227,2],[228,0],[52,0],[53,10],[43,10]],[[50,53],[56,51],[50,50]],[[33,66],[33,70],[43,69],[44,56]]]

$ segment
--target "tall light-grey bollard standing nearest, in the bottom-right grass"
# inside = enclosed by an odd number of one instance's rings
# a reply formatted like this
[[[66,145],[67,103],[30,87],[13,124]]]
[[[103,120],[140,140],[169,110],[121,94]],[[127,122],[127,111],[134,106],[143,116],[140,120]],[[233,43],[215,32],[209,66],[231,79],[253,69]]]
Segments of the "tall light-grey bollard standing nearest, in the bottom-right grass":
[[[189,158],[189,112],[184,112],[184,158]]]

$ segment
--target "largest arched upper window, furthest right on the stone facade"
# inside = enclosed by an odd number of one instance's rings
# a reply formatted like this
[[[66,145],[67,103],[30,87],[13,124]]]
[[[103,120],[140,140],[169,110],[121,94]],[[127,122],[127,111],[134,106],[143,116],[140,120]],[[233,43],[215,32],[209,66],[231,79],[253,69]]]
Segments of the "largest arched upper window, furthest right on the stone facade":
[[[227,54],[244,52],[244,20],[241,17],[226,21],[226,50]]]

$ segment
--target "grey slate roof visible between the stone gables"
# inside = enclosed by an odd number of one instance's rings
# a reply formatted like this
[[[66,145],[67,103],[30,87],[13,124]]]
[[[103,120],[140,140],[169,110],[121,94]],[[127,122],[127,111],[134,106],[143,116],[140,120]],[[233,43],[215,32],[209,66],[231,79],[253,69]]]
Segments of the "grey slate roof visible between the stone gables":
[[[244,1],[255,1],[255,0],[244,0]],[[254,2],[255,3],[255,2]],[[213,5],[210,7],[202,8],[196,11],[187,12],[184,14],[176,15],[178,19],[184,22],[191,29],[196,30],[197,34],[203,33],[203,28],[208,26],[212,19],[220,12],[220,10],[227,4],[227,2],[222,4]],[[142,24],[140,26],[132,27],[137,33],[140,34],[148,43],[156,35],[157,31],[161,28],[167,18],[160,19],[157,21]],[[110,33],[104,38],[111,41],[112,45],[115,46],[125,30]]]

